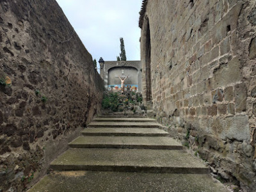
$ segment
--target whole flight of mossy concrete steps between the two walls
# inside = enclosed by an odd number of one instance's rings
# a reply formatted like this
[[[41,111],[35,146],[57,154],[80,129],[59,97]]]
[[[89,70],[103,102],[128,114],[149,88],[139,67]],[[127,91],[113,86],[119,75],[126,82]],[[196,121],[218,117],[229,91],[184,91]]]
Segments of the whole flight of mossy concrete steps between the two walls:
[[[228,191],[156,120],[95,118],[30,191]]]

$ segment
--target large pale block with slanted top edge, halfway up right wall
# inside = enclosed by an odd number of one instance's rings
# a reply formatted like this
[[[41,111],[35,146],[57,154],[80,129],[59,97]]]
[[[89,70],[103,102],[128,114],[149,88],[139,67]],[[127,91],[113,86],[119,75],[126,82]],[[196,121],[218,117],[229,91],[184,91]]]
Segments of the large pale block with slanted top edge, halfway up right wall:
[[[241,63],[238,58],[234,58],[228,63],[221,64],[214,69],[214,87],[227,86],[230,83],[241,81]]]

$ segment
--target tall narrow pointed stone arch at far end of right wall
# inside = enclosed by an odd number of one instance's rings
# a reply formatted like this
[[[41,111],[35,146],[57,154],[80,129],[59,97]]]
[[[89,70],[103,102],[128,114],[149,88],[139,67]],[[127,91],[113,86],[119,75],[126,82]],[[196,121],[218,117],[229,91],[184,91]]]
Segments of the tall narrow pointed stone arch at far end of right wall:
[[[151,41],[150,41],[150,22],[145,17],[143,31],[141,34],[141,63],[143,66],[143,96],[147,106],[152,103],[152,76],[151,76]]]

